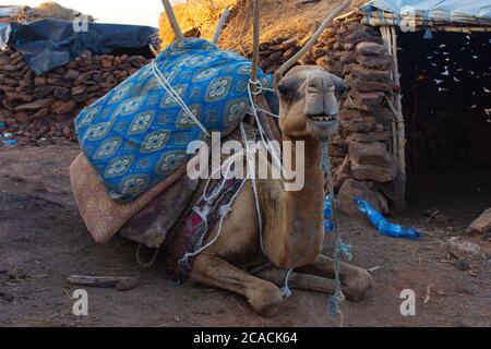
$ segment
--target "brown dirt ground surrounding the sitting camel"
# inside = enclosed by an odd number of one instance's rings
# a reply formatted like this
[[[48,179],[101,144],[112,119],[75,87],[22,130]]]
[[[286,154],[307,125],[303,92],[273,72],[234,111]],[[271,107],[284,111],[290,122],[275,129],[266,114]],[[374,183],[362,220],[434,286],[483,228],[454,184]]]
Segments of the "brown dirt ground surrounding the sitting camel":
[[[141,268],[132,242],[117,238],[96,245],[70,190],[68,167],[77,153],[74,144],[0,151],[0,326],[336,325],[326,294],[294,290],[275,317],[262,318],[238,296],[171,286],[161,263]],[[444,249],[445,239],[464,236],[490,206],[489,192],[476,195],[468,202],[460,197],[458,205],[454,201],[454,210],[442,197],[439,208],[453,218],[445,226],[423,215],[434,203],[423,201],[408,212],[399,221],[423,231],[419,241],[382,237],[364,221],[343,219],[354,262],[381,266],[366,301],[342,303],[347,326],[491,326],[489,267],[478,274],[459,270]],[[332,243],[331,236],[327,250]],[[65,281],[72,274],[141,276],[143,286],[127,292],[88,289],[89,315],[75,317],[70,296],[76,288]],[[400,315],[403,289],[416,292],[416,316]]]

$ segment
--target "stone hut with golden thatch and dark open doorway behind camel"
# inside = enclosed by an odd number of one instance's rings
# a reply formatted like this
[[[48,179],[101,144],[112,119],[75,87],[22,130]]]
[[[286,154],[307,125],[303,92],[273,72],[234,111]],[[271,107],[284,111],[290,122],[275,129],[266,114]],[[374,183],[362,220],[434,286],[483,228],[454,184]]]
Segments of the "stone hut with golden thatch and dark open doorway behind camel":
[[[252,0],[229,2],[219,45],[249,56]],[[261,68],[278,69],[338,2],[262,0]],[[220,12],[190,27],[212,33],[203,28],[214,29]],[[339,115],[342,132],[331,146],[345,214],[359,215],[356,195],[383,213],[407,203],[431,208],[448,197],[442,193],[453,194],[454,207],[478,193],[472,214],[489,206],[490,21],[483,0],[354,1],[302,58],[350,87]]]

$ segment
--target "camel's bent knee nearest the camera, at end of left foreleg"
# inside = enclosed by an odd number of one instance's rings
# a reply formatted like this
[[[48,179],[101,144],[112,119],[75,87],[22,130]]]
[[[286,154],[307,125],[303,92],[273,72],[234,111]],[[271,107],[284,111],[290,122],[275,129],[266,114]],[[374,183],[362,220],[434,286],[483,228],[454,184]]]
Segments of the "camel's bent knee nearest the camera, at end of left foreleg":
[[[247,298],[254,312],[265,317],[274,316],[283,302],[279,288],[273,282],[264,280],[249,291]]]

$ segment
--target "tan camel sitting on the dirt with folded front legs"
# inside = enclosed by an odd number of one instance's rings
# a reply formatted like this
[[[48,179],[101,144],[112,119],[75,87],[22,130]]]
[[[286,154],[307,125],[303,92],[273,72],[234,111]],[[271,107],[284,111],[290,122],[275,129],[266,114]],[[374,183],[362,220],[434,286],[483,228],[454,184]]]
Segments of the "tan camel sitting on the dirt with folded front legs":
[[[344,10],[343,5],[332,13],[311,41]],[[170,20],[173,15],[169,3],[166,12]],[[179,31],[177,22],[172,27]],[[177,32],[176,37],[182,34]],[[219,233],[218,238],[194,258],[190,273],[192,281],[243,296],[262,316],[273,316],[279,310],[284,298],[278,285],[285,270],[295,269],[290,275],[294,288],[335,292],[334,261],[322,254],[325,236],[322,142],[338,131],[337,96],[347,86],[342,79],[319,67],[295,67],[287,72],[308,46],[279,69],[275,84],[280,100],[283,141],[294,143],[294,157],[296,143],[304,142],[303,189],[289,192],[284,189],[285,180],[258,180],[262,207],[259,222],[252,183],[248,181],[233,202],[221,232],[215,228],[204,243],[208,244]],[[340,279],[343,292],[351,301],[363,300],[372,286],[370,273],[349,264],[342,264]]]

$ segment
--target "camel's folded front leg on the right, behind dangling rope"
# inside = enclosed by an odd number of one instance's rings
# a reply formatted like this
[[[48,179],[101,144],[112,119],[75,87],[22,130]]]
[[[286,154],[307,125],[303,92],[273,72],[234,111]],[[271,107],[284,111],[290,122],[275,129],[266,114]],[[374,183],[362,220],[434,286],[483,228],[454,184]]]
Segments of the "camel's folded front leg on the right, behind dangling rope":
[[[333,279],[335,277],[334,260],[321,255],[312,265],[296,269],[299,273],[312,274]],[[372,277],[366,269],[347,263],[340,264],[342,288],[346,298],[350,301],[362,301],[372,288]]]

